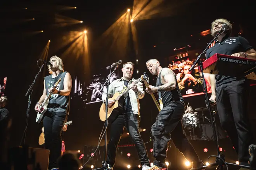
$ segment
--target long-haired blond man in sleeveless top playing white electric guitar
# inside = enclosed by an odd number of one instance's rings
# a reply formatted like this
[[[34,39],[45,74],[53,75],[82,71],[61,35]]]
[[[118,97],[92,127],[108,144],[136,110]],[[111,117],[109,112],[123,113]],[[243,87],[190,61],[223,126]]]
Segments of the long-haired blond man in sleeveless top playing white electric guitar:
[[[72,80],[68,72],[63,72],[62,59],[57,56],[50,58],[51,65],[48,65],[49,73],[43,82],[43,95],[36,103],[35,110],[40,112],[40,105],[43,103],[48,93],[52,93],[47,112],[43,117],[43,128],[45,131],[45,148],[50,150],[48,169],[55,170],[57,159],[61,156],[61,129],[69,114],[69,94],[71,92]],[[52,88],[55,82],[61,78],[61,82],[56,88]]]

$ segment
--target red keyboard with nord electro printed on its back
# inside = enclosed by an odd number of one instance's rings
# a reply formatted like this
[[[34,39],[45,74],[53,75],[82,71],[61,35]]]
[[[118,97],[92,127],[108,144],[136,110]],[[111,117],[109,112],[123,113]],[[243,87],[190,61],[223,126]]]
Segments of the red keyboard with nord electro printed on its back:
[[[225,76],[246,76],[256,80],[256,59],[214,54],[203,62],[204,73]],[[254,71],[253,71],[254,70]]]

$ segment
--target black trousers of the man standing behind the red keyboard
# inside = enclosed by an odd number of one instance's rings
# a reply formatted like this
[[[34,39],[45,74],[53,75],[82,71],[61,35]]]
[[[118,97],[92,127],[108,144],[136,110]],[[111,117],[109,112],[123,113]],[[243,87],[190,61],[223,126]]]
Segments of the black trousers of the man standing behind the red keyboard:
[[[216,103],[220,123],[227,132],[241,165],[249,165],[248,148],[253,135],[247,116],[249,85],[245,80],[233,81],[216,87]]]

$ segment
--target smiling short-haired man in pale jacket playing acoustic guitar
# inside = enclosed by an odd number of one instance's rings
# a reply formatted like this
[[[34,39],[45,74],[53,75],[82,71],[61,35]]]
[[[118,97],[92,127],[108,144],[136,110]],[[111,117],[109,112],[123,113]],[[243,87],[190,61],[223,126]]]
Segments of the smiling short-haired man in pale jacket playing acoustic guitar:
[[[131,136],[131,140],[135,144],[142,165],[142,170],[150,169],[145,143],[139,133],[139,99],[144,97],[145,92],[141,82],[138,82],[137,84],[133,83],[135,82],[135,79],[132,78],[133,69],[134,64],[132,62],[125,63],[122,68],[123,77],[114,80],[109,85],[108,94],[106,91],[102,94],[102,101],[105,103],[107,97],[112,97],[115,93],[122,92],[126,87],[131,88],[117,101],[118,107],[112,111],[112,114],[117,114],[118,116],[111,124],[110,140],[107,151],[107,164],[109,169],[114,167],[116,150],[119,140],[123,134],[124,127],[126,127]],[[115,100],[108,100],[109,107],[114,103]]]

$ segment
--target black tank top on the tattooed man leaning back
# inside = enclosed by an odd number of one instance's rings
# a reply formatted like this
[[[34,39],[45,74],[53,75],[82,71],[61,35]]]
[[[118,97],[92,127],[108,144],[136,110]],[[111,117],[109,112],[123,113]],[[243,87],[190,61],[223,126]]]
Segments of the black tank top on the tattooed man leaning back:
[[[170,69],[170,68],[168,68],[168,69]],[[156,87],[163,85],[161,83],[161,72],[162,72],[162,70],[160,71],[159,76],[157,78]],[[175,81],[176,81],[176,88],[175,89],[173,89],[171,91],[158,92],[159,98],[162,98],[162,102],[163,102],[164,106],[168,105],[170,102],[173,102],[173,101],[175,101],[175,102],[176,101],[184,102],[184,99],[181,95],[181,92],[180,92],[180,89],[179,89],[179,86],[178,86],[176,75],[175,75]]]

